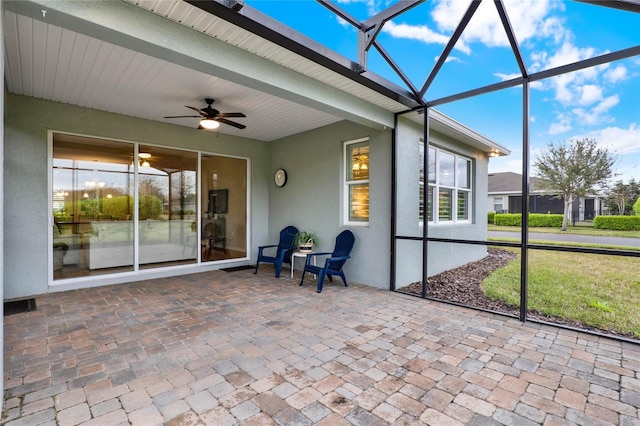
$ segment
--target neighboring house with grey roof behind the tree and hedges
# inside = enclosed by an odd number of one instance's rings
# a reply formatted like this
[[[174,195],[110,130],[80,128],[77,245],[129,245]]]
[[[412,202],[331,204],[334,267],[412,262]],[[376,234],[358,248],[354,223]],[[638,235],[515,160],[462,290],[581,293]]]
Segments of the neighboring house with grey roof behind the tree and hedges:
[[[531,213],[564,213],[564,197],[541,189],[540,178],[529,179]],[[593,220],[603,213],[604,202],[598,196],[577,198],[571,204],[573,222]],[[487,210],[496,213],[522,213],[522,175],[513,172],[489,173]]]

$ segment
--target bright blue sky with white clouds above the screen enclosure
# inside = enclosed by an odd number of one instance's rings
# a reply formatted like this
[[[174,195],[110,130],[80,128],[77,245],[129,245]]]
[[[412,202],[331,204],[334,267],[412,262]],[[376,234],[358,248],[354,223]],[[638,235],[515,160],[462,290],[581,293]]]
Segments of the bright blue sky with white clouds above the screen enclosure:
[[[360,21],[395,3],[334,2]],[[317,2],[246,4],[357,61],[356,29]],[[421,88],[468,6],[466,0],[428,0],[385,24],[377,40]],[[637,13],[561,0],[507,0],[505,7],[530,73],[640,45]],[[367,69],[405,87],[374,48]],[[518,72],[494,2],[484,0],[425,99],[503,81]],[[491,172],[521,171],[521,88],[437,109],[511,150],[510,156],[491,160]],[[640,181],[640,56],[534,82],[530,111],[532,160],[550,142],[592,137],[618,156],[614,180]]]

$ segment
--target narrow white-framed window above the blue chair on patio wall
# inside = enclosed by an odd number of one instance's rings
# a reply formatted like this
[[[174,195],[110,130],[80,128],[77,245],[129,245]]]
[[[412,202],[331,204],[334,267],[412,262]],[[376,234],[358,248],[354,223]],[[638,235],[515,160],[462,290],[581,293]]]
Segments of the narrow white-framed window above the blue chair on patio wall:
[[[369,224],[369,138],[344,143],[344,222]]]

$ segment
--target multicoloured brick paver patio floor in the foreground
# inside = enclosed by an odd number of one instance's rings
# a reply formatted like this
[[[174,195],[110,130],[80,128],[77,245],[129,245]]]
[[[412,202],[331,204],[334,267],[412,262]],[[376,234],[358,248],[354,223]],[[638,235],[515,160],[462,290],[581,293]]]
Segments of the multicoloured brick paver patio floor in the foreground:
[[[311,281],[38,298],[5,317],[3,423],[640,425],[640,345]]]

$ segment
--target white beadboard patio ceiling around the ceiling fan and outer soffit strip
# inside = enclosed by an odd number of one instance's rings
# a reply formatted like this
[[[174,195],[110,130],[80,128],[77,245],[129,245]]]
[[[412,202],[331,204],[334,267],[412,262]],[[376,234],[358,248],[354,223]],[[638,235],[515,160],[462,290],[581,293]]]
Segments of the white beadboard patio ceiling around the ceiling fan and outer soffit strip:
[[[171,19],[183,25],[215,27],[216,38],[324,80],[332,87],[368,99],[388,110],[402,105],[321,68],[279,46],[251,36],[224,21],[181,1],[136,2],[166,8]],[[143,6],[142,4],[139,6]],[[163,14],[164,9],[154,9]],[[164,15],[163,15],[164,16]],[[191,115],[184,105],[204,107],[203,99],[216,99],[221,112],[243,112],[234,119],[247,126],[239,130],[222,125],[221,133],[271,141],[337,121],[327,114],[276,96],[249,89],[213,75],[126,49],[97,38],[63,29],[40,20],[5,11],[5,84],[9,92],[93,108],[149,120],[197,127],[195,118],[164,119]]]

